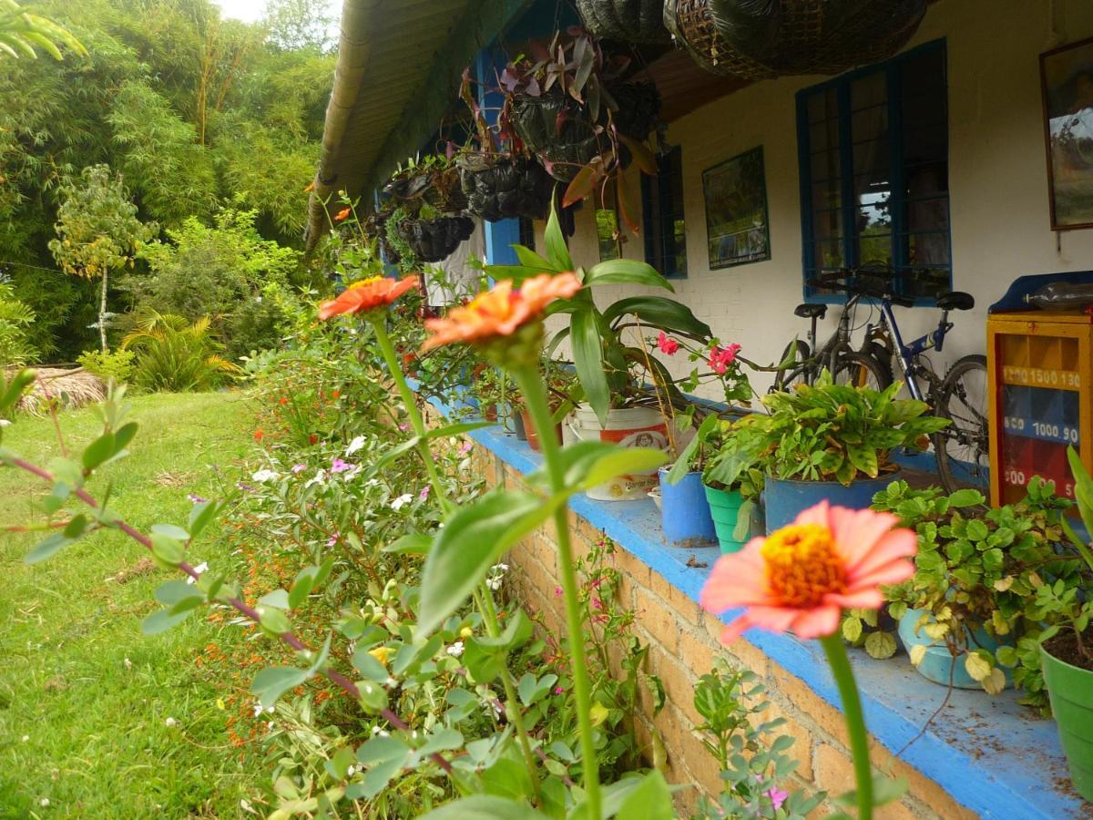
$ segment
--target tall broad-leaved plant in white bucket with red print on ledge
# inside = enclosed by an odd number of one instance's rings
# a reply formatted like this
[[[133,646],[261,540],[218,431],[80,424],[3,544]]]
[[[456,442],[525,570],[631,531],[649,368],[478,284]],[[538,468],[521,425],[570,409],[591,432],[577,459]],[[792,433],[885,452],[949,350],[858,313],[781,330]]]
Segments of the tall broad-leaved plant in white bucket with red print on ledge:
[[[584,285],[575,296],[555,302],[548,311],[568,317],[567,326],[550,340],[548,352],[552,353],[562,341],[569,341],[577,388],[584,399],[565,423],[566,438],[665,449],[668,445],[667,420],[656,407],[656,397],[643,388],[643,374],[648,376],[651,370],[653,377],[673,395],[679,391],[663,365],[639,347],[628,344],[625,333],[634,329],[639,341],[640,332],[651,328],[703,341],[712,336],[709,326],[700,321],[691,308],[663,296],[630,296],[600,309],[591,293],[599,285],[632,283],[668,291],[672,288],[645,262],[612,259],[588,270],[577,267],[565,246],[556,211],[551,212],[544,238],[545,257],[514,245],[520,263],[490,266],[486,272],[497,279],[518,282],[544,271],[574,271]],[[681,395],[679,398],[682,400]],[[588,495],[600,501],[630,501],[645,497],[656,483],[655,471],[625,476],[609,485],[589,490]]]

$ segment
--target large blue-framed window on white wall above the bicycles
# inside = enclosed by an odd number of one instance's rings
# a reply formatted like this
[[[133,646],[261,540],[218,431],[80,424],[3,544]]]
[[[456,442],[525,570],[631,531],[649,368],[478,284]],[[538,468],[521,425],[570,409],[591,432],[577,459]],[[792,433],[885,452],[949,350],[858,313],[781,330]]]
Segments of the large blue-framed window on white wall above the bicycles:
[[[952,282],[949,106],[939,40],[797,97],[806,295],[823,268],[891,266],[924,303]]]

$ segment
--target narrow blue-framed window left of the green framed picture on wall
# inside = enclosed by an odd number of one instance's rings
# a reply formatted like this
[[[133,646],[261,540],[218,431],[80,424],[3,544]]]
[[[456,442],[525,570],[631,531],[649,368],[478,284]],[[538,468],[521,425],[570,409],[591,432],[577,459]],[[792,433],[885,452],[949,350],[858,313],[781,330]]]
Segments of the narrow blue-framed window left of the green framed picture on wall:
[[[656,176],[642,175],[645,261],[668,279],[686,278],[683,155],[677,145],[657,157]]]

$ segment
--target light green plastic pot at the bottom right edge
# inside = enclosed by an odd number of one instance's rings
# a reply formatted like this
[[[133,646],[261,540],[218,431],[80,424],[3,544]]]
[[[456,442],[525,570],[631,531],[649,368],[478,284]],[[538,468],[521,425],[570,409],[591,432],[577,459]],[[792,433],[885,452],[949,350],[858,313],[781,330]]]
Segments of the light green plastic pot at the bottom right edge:
[[[1059,660],[1043,646],[1041,666],[1070,780],[1078,794],[1093,801],[1093,672]]]

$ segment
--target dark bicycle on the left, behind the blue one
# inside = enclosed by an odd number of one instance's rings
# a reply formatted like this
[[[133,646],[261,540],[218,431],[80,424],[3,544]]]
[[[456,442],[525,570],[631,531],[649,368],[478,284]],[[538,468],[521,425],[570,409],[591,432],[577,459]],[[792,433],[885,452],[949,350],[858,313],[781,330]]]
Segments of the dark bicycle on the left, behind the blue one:
[[[875,274],[867,268],[859,268],[856,271],[837,269],[819,273],[809,280],[809,284],[814,288],[845,290],[842,280],[850,276]],[[786,345],[775,371],[771,393],[781,393],[795,384],[814,384],[823,371],[828,371],[836,384],[847,384],[848,379],[854,380],[860,374],[868,374],[863,384],[874,389],[880,390],[892,384],[892,368],[886,364],[890,359],[877,350],[874,345],[879,342],[875,339],[870,339],[867,332],[866,342],[859,350],[855,350],[850,343],[853,332],[850,324],[862,295],[865,294],[847,292],[847,301],[838,317],[838,326],[819,349],[816,349],[816,324],[827,315],[827,305],[804,303],[794,308],[795,316],[811,319],[808,341],[794,339]]]

